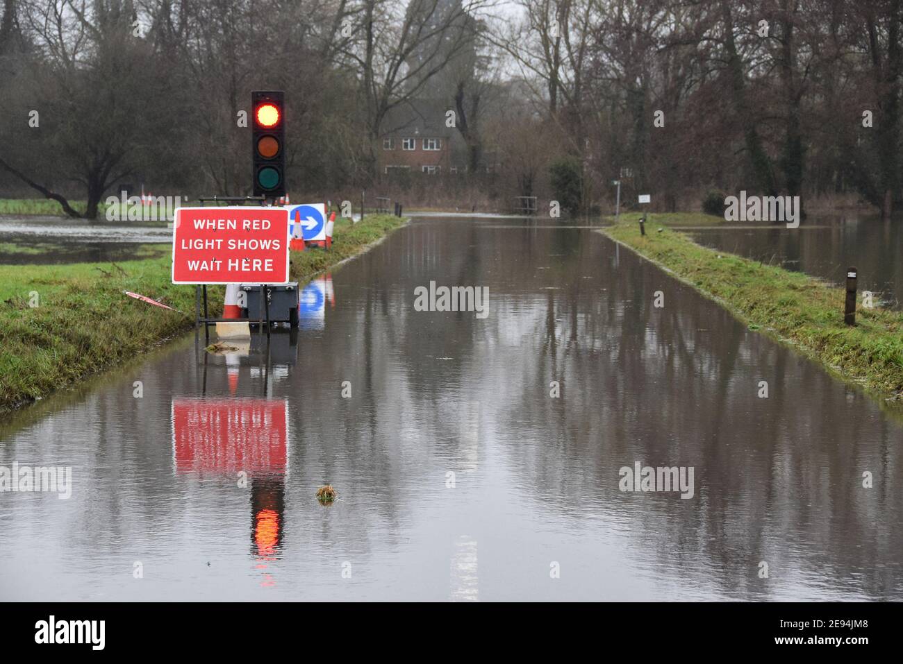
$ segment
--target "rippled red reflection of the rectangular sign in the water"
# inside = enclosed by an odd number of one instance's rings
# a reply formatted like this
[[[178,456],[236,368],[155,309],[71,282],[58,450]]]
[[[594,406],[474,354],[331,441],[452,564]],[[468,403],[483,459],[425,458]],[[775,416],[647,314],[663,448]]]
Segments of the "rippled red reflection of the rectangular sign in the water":
[[[288,459],[285,401],[172,401],[176,473],[282,474]]]

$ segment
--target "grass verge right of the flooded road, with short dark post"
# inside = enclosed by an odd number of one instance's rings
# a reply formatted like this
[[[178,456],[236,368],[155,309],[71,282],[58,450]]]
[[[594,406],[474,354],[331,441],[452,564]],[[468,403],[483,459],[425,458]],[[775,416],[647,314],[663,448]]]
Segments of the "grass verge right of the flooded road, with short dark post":
[[[666,219],[662,221],[666,222]],[[795,346],[833,374],[886,399],[903,397],[903,312],[856,308],[843,324],[845,291],[800,272],[750,261],[695,244],[665,227],[636,222],[603,230],[717,300],[751,329]]]

